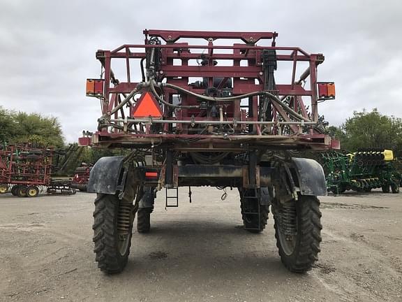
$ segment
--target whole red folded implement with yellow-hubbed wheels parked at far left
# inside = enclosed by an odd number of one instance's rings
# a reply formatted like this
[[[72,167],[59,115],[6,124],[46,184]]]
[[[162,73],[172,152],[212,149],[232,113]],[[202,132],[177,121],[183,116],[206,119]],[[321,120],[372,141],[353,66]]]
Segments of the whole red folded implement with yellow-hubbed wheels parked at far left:
[[[0,150],[0,193],[10,189],[15,196],[36,197],[46,188],[48,194],[73,194],[68,180],[51,178],[53,148],[36,147],[20,144]]]

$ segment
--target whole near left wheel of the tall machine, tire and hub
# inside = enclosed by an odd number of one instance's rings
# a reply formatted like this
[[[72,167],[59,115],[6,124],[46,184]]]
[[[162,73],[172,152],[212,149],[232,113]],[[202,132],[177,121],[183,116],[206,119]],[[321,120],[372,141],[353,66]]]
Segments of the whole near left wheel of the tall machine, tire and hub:
[[[120,273],[128,261],[133,229],[133,204],[110,194],[97,194],[94,211],[94,252],[98,268]]]

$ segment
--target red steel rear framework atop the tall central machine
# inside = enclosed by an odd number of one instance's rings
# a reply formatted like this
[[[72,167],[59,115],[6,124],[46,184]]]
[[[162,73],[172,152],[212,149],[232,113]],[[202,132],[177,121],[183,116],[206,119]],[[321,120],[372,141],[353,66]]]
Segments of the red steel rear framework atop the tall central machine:
[[[191,148],[198,150],[241,150],[239,144],[253,143],[256,145],[271,146],[272,148],[313,148],[325,150],[338,147],[338,142],[332,141],[329,136],[316,131],[313,126],[318,125],[318,92],[317,92],[317,66],[324,61],[321,54],[308,54],[297,47],[276,46],[276,32],[221,32],[221,31],[162,31],[144,30],[144,45],[121,45],[115,50],[98,50],[96,57],[103,65],[105,80],[104,92],[101,97],[103,117],[110,124],[103,124],[92,137],[95,145],[127,146],[135,145],[159,145],[175,141],[177,139],[199,138],[200,141],[192,144]],[[149,44],[149,36],[162,38],[165,44]],[[182,38],[202,38],[207,45],[190,45],[188,42],[178,42]],[[214,42],[221,39],[239,39],[243,43],[233,45],[215,45]],[[258,46],[258,41],[271,40],[269,46]],[[275,50],[277,62],[291,62],[292,72],[289,83],[276,84],[275,91],[269,91],[277,95],[281,101],[286,98],[289,107],[304,117],[303,120],[295,120],[288,115],[283,107],[272,103],[272,119],[258,120],[258,104],[260,96],[248,99],[248,114],[242,109],[240,101],[226,104],[225,119],[222,117],[203,117],[200,110],[181,109],[176,110],[175,115],[168,106],[163,106],[164,116],[162,120],[142,119],[134,120],[124,108],[115,110],[121,99],[137,87],[139,81],[133,81],[133,60],[144,61],[147,58],[147,50],[160,50],[161,64],[157,71],[157,82],[167,82],[187,89],[197,94],[203,94],[204,88],[189,85],[189,78],[207,78],[209,86],[213,85],[214,78],[223,78],[220,87],[225,81],[233,82],[232,94],[238,96],[250,92],[264,91],[264,73],[262,72],[262,52]],[[140,51],[142,50],[142,51]],[[202,51],[202,52],[200,52]],[[192,65],[191,60],[200,60],[203,57],[204,64]],[[112,60],[124,60],[126,80],[116,79],[111,66]],[[179,59],[180,64],[176,61]],[[215,66],[214,61],[230,62],[230,66]],[[242,66],[241,62],[247,62]],[[297,66],[299,62],[306,62],[308,68],[301,73],[297,80]],[[139,61],[138,61],[139,63]],[[140,66],[139,64],[136,66]],[[304,88],[306,80],[309,87]],[[144,92],[146,89],[142,89]],[[172,96],[179,94],[176,90],[166,87],[163,89],[163,99],[172,103]],[[196,106],[198,101],[193,96],[180,94],[181,105]],[[308,96],[311,100],[311,113],[308,113],[302,97]],[[131,101],[132,103],[132,101]],[[144,132],[127,131],[128,125],[140,123],[144,125]],[[164,133],[150,131],[151,124],[163,124]],[[179,131],[169,132],[169,124],[175,124]],[[230,124],[235,130],[233,134],[189,134],[189,126],[194,124]],[[110,127],[120,125],[120,127]],[[253,133],[240,133],[241,129],[254,125]],[[288,131],[283,131],[287,127]],[[306,130],[306,127],[308,130]],[[229,139],[228,139],[229,138]],[[85,145],[88,138],[81,138],[80,143]],[[176,143],[176,145],[180,145]],[[178,147],[185,150],[188,147]]]

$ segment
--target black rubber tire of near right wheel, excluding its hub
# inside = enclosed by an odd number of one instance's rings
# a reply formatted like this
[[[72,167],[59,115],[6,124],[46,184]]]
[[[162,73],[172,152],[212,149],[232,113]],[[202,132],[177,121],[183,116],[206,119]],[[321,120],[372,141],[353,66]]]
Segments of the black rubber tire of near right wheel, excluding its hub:
[[[293,273],[305,273],[311,270],[318,260],[321,238],[320,201],[315,196],[299,196],[296,202],[297,234],[292,252],[286,253],[281,243],[279,219],[273,205],[276,246],[282,263]]]

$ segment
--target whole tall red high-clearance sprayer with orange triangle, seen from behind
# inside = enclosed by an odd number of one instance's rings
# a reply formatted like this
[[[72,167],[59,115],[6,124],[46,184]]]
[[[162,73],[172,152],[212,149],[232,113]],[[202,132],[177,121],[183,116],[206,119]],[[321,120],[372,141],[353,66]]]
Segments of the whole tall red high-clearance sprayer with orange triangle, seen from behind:
[[[335,89],[317,80],[323,55],[276,46],[277,36],[144,30],[144,45],[96,52],[103,78],[87,80],[87,96],[101,101],[102,115],[80,144],[131,150],[100,159],[89,178],[102,271],[124,268],[135,213],[137,230],[149,231],[158,190],[175,192],[169,207],[178,187],[204,185],[237,187],[251,233],[265,229],[271,206],[283,264],[311,268],[321,240],[316,196],[327,188],[316,161],[292,154],[339,147],[318,114]],[[101,222],[105,215],[117,219]]]

